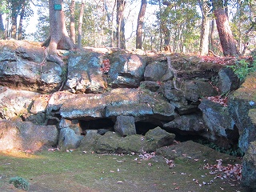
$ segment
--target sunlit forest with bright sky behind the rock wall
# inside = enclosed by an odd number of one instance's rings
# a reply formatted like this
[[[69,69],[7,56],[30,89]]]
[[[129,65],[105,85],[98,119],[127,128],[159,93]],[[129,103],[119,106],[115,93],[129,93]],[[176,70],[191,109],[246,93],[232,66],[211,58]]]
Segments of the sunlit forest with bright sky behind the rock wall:
[[[49,2],[0,0],[0,37],[46,41],[50,36]],[[205,55],[212,50],[222,55],[220,37],[225,38],[225,34],[220,34],[216,27],[219,16],[214,12],[220,6],[225,11],[238,53],[251,54],[256,48],[255,0],[56,2],[63,2],[70,38],[74,43],[81,41],[82,46],[156,51],[167,47],[171,52],[183,54]],[[35,28],[33,33],[32,28]]]

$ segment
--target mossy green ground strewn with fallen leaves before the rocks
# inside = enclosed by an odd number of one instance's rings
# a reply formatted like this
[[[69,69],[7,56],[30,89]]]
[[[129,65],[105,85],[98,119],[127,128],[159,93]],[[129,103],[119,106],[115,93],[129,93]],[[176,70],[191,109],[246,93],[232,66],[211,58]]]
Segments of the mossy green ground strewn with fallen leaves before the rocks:
[[[137,159],[138,158],[138,159]],[[17,190],[9,184],[20,176],[29,191],[246,191],[234,178],[221,179],[202,169],[205,162],[177,158],[170,168],[161,157],[43,151],[0,154],[0,191]],[[203,182],[211,184],[202,184]],[[200,186],[199,184],[202,184]]]

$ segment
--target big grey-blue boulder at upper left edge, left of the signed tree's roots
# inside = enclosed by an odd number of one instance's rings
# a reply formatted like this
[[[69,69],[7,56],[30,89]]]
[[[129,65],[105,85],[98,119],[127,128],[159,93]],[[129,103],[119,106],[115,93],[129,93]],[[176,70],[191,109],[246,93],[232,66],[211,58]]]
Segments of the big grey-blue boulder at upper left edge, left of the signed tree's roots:
[[[39,45],[1,40],[0,85],[40,93],[57,91],[64,79],[64,69],[45,58],[45,50]]]

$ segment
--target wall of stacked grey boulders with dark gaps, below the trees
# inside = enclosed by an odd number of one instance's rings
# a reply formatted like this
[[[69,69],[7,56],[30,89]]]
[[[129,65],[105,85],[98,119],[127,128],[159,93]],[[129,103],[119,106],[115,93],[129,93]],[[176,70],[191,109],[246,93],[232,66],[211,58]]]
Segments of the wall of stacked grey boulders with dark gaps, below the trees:
[[[254,141],[254,75],[238,89],[232,59],[92,48],[62,51],[58,66],[45,56],[31,42],[0,42],[0,142],[14,138],[1,150],[153,151],[177,134],[246,152]],[[226,93],[227,106],[209,99]]]

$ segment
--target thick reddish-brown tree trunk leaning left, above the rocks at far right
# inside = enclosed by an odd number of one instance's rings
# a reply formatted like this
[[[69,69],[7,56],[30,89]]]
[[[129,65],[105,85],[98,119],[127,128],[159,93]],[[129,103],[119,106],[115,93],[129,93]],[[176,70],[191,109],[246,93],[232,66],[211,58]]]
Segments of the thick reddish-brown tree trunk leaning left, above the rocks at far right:
[[[233,38],[232,31],[230,29],[230,24],[228,18],[226,17],[226,12],[221,6],[222,1],[214,0],[214,16],[216,19],[216,25],[218,30],[218,35],[222,45],[222,50],[224,56],[236,56],[238,55],[238,48],[236,46],[237,42]]]

